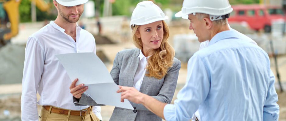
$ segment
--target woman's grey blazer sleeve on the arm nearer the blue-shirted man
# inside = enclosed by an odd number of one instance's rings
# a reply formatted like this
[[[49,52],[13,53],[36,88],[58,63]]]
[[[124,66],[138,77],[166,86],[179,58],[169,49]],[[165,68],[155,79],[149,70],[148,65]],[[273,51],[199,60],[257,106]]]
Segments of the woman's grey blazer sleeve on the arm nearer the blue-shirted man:
[[[152,96],[152,97],[154,97],[156,100],[159,100],[160,102],[163,102],[163,103],[168,103],[168,104],[171,103],[175,90],[176,90],[180,68],[181,68],[180,60],[174,59],[173,66],[170,68],[168,73],[165,75],[165,79],[159,91],[159,94],[156,96]],[[131,103],[133,107],[136,107],[137,110],[148,110],[142,104],[133,103],[131,101],[129,102]]]

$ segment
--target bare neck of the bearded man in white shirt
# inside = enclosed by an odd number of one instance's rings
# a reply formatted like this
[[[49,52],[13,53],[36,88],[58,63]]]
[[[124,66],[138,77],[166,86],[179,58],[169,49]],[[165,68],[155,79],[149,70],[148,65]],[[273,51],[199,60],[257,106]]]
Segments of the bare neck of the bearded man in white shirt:
[[[71,33],[73,31],[76,31],[75,30],[76,23],[70,23],[70,22],[62,19],[60,15],[58,15],[58,17],[56,18],[54,23],[56,23],[61,28],[65,29],[66,33]]]

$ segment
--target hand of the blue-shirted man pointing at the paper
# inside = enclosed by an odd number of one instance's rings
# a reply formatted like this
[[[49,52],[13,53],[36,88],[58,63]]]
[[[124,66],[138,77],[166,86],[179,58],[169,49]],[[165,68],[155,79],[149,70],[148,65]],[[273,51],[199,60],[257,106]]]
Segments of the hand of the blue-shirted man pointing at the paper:
[[[143,97],[145,96],[144,93],[139,92],[136,90],[134,87],[124,87],[124,86],[119,86],[119,90],[117,90],[117,93],[121,93],[121,102],[124,102],[124,99],[130,100],[134,103],[141,103]]]

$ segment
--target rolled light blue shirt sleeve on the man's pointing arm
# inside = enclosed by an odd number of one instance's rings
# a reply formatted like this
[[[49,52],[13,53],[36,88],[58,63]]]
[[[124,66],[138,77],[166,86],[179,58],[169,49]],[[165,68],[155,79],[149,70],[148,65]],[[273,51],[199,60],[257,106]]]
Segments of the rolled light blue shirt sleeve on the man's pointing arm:
[[[210,90],[209,72],[196,54],[188,62],[185,86],[177,94],[174,104],[164,107],[166,121],[189,121]]]

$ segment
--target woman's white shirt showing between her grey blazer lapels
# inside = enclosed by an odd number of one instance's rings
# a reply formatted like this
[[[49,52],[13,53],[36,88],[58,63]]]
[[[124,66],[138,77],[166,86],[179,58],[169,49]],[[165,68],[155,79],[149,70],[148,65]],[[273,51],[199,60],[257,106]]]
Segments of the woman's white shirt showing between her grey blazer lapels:
[[[135,76],[134,76],[134,80],[133,80],[133,87],[135,89],[137,89],[138,91],[140,91],[140,87],[143,81],[143,77],[145,75],[146,72],[146,65],[147,65],[147,59],[150,57],[145,57],[145,55],[142,53],[142,50],[140,51],[140,54],[138,55],[139,57],[139,64],[138,64],[138,68],[136,70]]]

